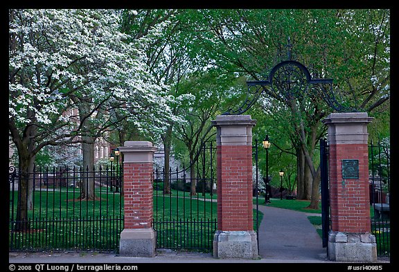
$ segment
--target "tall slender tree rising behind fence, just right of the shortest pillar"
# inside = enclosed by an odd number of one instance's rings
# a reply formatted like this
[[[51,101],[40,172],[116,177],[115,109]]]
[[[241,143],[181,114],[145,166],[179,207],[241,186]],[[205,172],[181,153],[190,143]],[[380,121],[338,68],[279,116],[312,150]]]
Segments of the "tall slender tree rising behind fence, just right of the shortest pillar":
[[[175,98],[171,106],[175,116],[184,118],[181,114],[181,107],[190,105],[193,95],[180,91],[182,78],[193,69],[195,62],[192,62],[187,55],[186,44],[190,39],[182,36],[179,26],[183,10],[164,9],[142,9],[123,10],[123,31],[130,34],[132,39],[139,39],[140,46],[145,51],[145,62],[150,66],[152,75],[157,78],[159,84],[166,84],[170,87],[170,95]],[[176,120],[176,119],[175,119]],[[161,136],[164,161],[163,169],[165,178],[163,192],[170,194],[170,152],[172,150],[172,130],[175,120],[169,120],[163,131],[157,135]],[[179,120],[179,124],[184,120]],[[121,129],[122,130],[122,129]],[[127,129],[123,129],[127,132]],[[122,141],[122,138],[120,137]],[[159,140],[154,138],[154,140]]]

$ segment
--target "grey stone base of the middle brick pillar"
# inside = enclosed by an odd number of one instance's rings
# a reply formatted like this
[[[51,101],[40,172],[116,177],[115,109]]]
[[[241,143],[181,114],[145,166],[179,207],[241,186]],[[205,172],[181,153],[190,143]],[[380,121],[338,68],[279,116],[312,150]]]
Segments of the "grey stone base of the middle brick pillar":
[[[213,237],[213,257],[220,259],[256,259],[258,242],[256,232],[216,231]]]

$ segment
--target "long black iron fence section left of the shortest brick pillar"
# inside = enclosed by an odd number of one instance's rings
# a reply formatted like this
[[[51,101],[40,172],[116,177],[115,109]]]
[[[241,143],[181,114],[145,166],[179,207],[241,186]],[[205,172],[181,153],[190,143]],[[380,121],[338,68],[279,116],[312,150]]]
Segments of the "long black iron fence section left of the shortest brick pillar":
[[[9,250],[118,251],[123,230],[121,165],[10,167]]]

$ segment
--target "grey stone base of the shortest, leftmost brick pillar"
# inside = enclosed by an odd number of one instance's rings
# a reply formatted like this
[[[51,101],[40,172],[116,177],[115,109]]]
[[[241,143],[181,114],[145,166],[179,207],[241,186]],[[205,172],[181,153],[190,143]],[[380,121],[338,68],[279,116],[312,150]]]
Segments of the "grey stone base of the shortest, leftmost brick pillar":
[[[153,228],[125,228],[119,242],[119,255],[154,257],[157,239]]]

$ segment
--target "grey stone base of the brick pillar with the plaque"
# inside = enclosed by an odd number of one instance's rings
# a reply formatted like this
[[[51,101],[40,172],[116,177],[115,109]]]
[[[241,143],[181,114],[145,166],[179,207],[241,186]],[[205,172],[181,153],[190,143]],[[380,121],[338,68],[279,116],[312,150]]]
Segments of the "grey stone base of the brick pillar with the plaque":
[[[337,262],[376,262],[377,244],[370,233],[328,233],[328,259]]]

